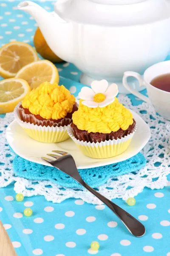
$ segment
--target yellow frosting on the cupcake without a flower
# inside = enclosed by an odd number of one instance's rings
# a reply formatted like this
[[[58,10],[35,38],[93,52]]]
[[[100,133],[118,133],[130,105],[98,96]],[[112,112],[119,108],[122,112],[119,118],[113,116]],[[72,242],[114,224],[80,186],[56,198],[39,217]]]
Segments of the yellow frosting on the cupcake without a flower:
[[[23,108],[44,119],[61,119],[71,113],[76,99],[63,85],[44,82],[24,98]]]

